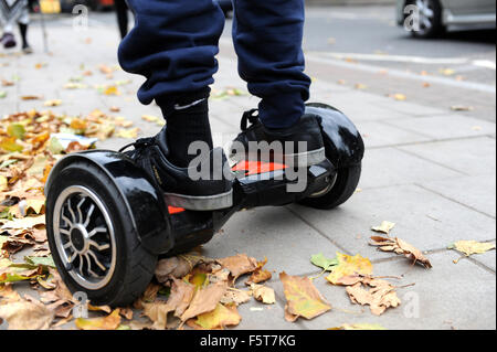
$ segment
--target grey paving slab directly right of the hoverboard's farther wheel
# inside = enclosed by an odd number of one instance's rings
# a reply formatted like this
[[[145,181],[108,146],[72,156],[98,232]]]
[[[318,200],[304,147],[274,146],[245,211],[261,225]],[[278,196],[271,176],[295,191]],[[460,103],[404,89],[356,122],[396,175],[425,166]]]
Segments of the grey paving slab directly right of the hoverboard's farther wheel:
[[[394,148],[370,149],[362,161],[360,188],[389,186],[457,178],[463,173]]]

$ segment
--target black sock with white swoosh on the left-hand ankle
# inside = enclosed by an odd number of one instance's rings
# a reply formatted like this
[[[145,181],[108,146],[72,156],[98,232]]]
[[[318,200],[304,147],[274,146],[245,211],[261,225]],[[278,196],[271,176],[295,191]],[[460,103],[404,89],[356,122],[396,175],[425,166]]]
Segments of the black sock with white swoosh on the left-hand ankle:
[[[187,168],[197,157],[188,154],[192,142],[203,141],[213,149],[208,98],[209,90],[203,90],[176,99],[175,106],[165,103],[166,98],[157,99],[167,120],[169,161],[177,167]]]

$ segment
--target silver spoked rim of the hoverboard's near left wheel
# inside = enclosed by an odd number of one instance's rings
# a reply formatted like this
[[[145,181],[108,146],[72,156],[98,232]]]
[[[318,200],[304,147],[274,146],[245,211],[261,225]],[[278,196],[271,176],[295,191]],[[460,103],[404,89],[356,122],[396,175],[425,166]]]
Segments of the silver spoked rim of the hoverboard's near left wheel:
[[[53,230],[59,257],[83,288],[98,290],[116,268],[116,238],[104,203],[89,189],[65,189],[54,206]]]

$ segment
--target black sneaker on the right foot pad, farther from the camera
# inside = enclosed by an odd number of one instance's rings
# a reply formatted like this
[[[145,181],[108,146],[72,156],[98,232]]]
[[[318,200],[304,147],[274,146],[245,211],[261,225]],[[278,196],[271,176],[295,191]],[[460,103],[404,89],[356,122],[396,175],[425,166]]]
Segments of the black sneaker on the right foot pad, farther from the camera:
[[[300,120],[285,129],[268,129],[255,115],[257,110],[243,114],[242,134],[236,137],[230,148],[230,159],[233,161],[283,161],[288,166],[305,168],[318,164],[326,160],[325,143],[321,128],[314,115],[304,115]],[[252,125],[247,127],[248,122]],[[278,150],[262,152],[254,145],[267,142],[269,148],[275,141],[281,142]],[[254,143],[255,142],[255,143]],[[304,145],[300,148],[300,142]],[[267,159],[268,158],[268,159]]]

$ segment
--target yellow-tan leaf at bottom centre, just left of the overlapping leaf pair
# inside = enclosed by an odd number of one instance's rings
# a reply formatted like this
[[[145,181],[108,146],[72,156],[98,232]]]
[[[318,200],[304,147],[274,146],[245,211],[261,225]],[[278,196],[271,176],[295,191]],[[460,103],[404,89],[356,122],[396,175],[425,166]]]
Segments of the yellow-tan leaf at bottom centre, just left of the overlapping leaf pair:
[[[286,320],[295,321],[298,317],[314,319],[331,309],[309,278],[282,273],[279,279],[283,282],[287,300]]]

